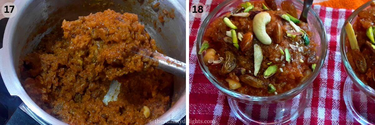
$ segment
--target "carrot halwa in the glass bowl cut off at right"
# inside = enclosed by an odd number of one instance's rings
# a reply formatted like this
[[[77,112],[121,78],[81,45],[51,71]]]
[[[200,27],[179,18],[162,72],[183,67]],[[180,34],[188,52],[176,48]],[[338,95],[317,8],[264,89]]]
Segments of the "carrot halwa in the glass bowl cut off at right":
[[[346,38],[345,45],[348,48],[347,57],[353,71],[359,79],[368,86],[375,89],[375,4],[371,3],[369,8],[358,13],[358,18],[351,27],[346,24],[346,32],[352,28],[356,36]]]

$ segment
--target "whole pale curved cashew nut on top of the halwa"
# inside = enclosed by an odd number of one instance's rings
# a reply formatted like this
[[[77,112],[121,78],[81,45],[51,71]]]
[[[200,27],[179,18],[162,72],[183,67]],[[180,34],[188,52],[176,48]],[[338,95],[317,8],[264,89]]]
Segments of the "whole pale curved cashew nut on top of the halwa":
[[[253,30],[257,39],[266,45],[270,45],[272,40],[266,32],[266,25],[270,23],[271,16],[267,12],[260,12],[255,15],[253,20]]]

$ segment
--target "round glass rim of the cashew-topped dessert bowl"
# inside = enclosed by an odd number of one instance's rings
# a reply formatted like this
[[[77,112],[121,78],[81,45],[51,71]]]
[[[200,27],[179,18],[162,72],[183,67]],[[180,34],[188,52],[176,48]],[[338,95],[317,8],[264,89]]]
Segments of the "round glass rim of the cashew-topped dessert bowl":
[[[202,22],[201,26],[199,27],[198,34],[197,34],[197,37],[196,37],[196,51],[197,52],[198,52],[198,50],[199,50],[199,48],[201,46],[200,44],[202,42],[202,38],[203,38],[204,32],[205,32],[206,27],[208,26],[208,23],[210,22],[211,18],[213,18],[214,15],[216,15],[217,12],[220,9],[222,9],[224,6],[228,5],[231,1],[233,1],[233,0],[225,0],[224,2],[220,3],[218,6],[216,6],[216,8],[214,8],[213,11],[211,11],[208,14],[208,16]],[[293,1],[296,1],[297,3],[303,5],[303,2],[301,0],[293,0]],[[199,54],[197,53],[196,56],[197,56],[199,66],[201,67],[201,70],[202,70],[203,74],[207,77],[207,79],[217,89],[219,89],[221,92],[223,92],[225,95],[229,96],[230,98],[233,98],[233,99],[236,99],[236,100],[239,100],[239,101],[245,101],[245,102],[273,102],[273,101],[277,101],[277,100],[281,100],[281,99],[289,99],[291,97],[294,97],[295,95],[298,95],[303,90],[305,90],[315,80],[315,78],[318,76],[321,68],[323,67],[323,64],[324,64],[324,61],[325,61],[326,55],[327,55],[327,44],[328,44],[327,41],[328,40],[327,40],[327,35],[326,35],[326,29],[323,26],[323,23],[322,23],[320,17],[315,13],[314,9],[310,8],[309,12],[310,12],[310,14],[312,14],[312,16],[314,17],[314,19],[317,19],[319,27],[322,30],[322,34],[320,35],[320,39],[321,39],[321,42],[320,42],[321,43],[321,55],[320,55],[320,59],[321,60],[320,60],[319,63],[317,63],[318,65],[315,68],[315,71],[313,72],[313,74],[311,75],[311,77],[309,77],[306,81],[304,81],[302,84],[300,84],[296,88],[288,90],[287,92],[280,93],[278,95],[272,95],[272,96],[251,96],[251,95],[246,95],[246,94],[242,94],[242,93],[236,92],[234,90],[230,90],[230,89],[228,89],[228,87],[222,86],[222,84],[220,84],[220,82],[217,81],[216,78],[212,74],[208,73],[210,71],[208,70],[207,66],[205,66],[202,63],[202,59],[201,59],[201,57],[199,57]],[[311,15],[309,15],[309,16],[311,16]]]

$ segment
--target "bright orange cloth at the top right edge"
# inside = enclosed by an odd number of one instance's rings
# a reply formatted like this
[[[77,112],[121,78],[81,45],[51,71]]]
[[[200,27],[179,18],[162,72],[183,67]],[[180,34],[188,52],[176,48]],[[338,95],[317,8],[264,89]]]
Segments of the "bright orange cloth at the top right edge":
[[[357,9],[369,0],[314,0],[314,5],[338,9]]]

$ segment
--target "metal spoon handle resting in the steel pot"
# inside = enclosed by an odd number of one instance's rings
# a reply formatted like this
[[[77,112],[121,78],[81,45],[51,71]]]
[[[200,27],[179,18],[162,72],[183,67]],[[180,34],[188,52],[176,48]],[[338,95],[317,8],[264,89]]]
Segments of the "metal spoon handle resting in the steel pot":
[[[168,56],[164,56],[157,51],[153,53],[153,58],[159,61],[159,65],[157,66],[158,69],[163,71],[169,72],[173,75],[178,77],[186,77],[186,64],[173,59]]]

